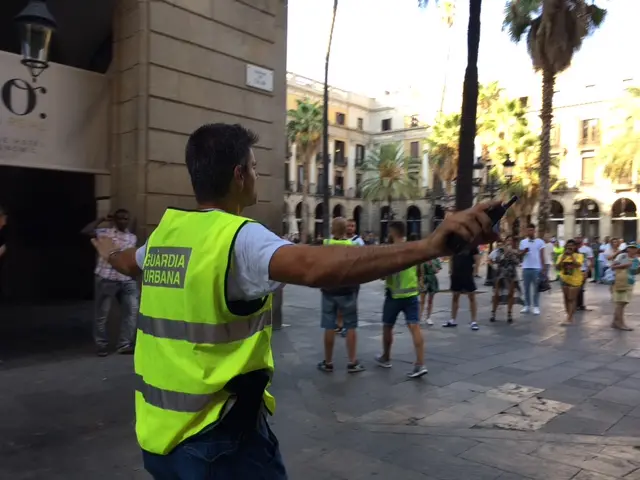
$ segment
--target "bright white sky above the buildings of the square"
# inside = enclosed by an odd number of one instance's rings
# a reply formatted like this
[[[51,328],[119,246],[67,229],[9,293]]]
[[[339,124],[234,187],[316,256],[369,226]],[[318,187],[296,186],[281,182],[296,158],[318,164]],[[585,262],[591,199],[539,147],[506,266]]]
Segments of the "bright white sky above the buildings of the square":
[[[372,97],[412,85],[424,90],[442,85],[448,42],[449,82],[462,81],[466,65],[468,5],[457,1],[451,36],[431,0],[340,0],[331,53],[331,85]],[[287,70],[322,81],[333,0],[289,0]],[[532,81],[524,44],[515,45],[502,31],[504,0],[482,6],[480,81],[499,80],[510,88]],[[601,75],[633,77],[640,71],[635,28],[640,0],[600,0],[608,9],[603,27],[576,55],[573,74],[597,81]],[[635,78],[640,78],[636,75]]]

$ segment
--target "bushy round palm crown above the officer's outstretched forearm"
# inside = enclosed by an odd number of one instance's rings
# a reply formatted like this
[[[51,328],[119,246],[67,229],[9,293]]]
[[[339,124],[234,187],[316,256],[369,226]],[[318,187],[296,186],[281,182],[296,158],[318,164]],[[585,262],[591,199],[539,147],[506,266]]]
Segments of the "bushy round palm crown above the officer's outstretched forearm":
[[[362,165],[362,197],[372,202],[387,202],[393,215],[393,200],[420,197],[420,166],[420,159],[407,157],[400,143],[374,148]]]

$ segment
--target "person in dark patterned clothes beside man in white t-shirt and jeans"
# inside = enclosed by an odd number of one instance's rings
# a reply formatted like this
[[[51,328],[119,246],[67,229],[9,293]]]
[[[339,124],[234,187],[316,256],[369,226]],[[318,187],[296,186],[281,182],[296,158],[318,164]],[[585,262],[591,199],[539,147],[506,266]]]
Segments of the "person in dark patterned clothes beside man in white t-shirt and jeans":
[[[518,266],[520,252],[516,247],[513,235],[508,235],[501,246],[489,255],[489,261],[494,266],[493,302],[490,322],[496,321],[496,311],[502,300],[502,292],[506,291],[507,323],[513,323],[513,303],[518,287]]]

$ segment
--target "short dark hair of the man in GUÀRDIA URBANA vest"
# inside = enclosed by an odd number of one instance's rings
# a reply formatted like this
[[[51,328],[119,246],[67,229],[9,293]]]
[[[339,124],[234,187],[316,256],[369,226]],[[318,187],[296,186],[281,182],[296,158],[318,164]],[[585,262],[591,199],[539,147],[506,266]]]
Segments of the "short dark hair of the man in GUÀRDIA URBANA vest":
[[[185,160],[196,200],[210,202],[227,195],[235,168],[248,167],[249,152],[256,143],[258,135],[238,124],[206,124],[193,132]]]

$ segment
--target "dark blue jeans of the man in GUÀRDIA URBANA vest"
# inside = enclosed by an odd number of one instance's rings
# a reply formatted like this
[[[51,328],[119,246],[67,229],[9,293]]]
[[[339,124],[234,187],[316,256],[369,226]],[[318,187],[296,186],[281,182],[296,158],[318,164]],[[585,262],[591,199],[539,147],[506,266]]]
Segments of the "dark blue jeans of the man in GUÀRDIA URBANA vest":
[[[155,480],[287,480],[278,440],[264,414],[253,431],[227,423],[223,419],[168,455],[143,450],[144,468]]]

